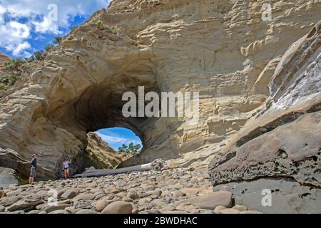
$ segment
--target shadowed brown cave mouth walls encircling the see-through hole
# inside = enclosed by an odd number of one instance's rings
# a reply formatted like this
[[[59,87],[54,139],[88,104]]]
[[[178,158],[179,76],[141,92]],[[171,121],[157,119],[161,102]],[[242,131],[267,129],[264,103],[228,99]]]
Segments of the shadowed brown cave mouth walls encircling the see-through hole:
[[[60,152],[60,157],[68,155],[77,160],[75,162],[77,172],[83,172],[87,167],[95,167],[97,169],[114,168],[115,163],[111,166],[103,166],[98,164],[100,162],[96,162],[99,160],[99,156],[94,155],[94,152],[90,150],[90,140],[88,140],[88,134],[90,133],[96,133],[102,129],[127,128],[138,136],[143,147],[141,153],[131,156],[126,162],[121,161],[120,166],[133,166],[146,162],[141,160],[141,157],[151,150],[151,146],[155,141],[154,138],[158,138],[163,133],[163,131],[156,130],[157,126],[155,125],[158,118],[127,117],[123,115],[123,106],[128,103],[128,100],[123,99],[125,93],[134,93],[136,98],[138,98],[141,86],[144,87],[145,93],[150,91],[160,93],[158,83],[156,83],[156,76],[149,60],[143,62],[133,61],[133,63],[128,64],[124,66],[122,73],[114,73],[108,75],[108,77],[101,71],[99,71],[99,75],[97,72],[91,72],[93,73],[93,78],[100,77],[106,79],[99,83],[98,81],[93,81],[91,82],[92,84],[88,84],[85,90],[81,90],[79,93],[76,91],[71,95],[74,98],[68,102],[66,102],[65,97],[71,93],[70,90],[66,91],[65,88],[59,87],[57,90],[61,90],[59,92],[62,98],[56,98],[55,96],[50,101],[50,103],[55,105],[64,103],[58,108],[51,107],[48,118],[51,123],[72,135],[72,140],[65,140],[66,143],[63,143],[58,148],[58,152]],[[148,102],[146,101],[146,103]],[[34,115],[33,118],[35,120],[42,115],[41,109],[42,107]],[[165,126],[163,130],[165,130]],[[111,142],[107,141],[107,143],[111,145]],[[118,147],[113,149],[118,150]],[[100,155],[103,155],[102,150]],[[112,157],[110,158],[112,160]],[[58,163],[60,164],[61,158],[59,159]],[[153,160],[153,156],[146,157],[146,160]],[[57,166],[56,163],[53,164],[55,169],[61,170],[60,166]]]

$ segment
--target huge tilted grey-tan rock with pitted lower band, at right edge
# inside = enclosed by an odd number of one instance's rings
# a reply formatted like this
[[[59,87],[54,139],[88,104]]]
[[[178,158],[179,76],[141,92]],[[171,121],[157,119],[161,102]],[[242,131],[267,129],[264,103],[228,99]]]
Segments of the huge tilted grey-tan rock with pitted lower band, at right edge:
[[[269,88],[263,110],[210,163],[213,185],[236,186],[239,202],[274,185],[274,204],[258,209],[320,213],[321,22],[282,56]]]

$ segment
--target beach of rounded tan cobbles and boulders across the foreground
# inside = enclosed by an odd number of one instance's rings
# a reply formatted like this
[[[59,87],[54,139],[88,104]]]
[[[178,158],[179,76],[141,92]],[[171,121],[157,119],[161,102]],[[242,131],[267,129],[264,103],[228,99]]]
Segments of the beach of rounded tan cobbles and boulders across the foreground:
[[[181,168],[13,185],[0,196],[1,213],[10,214],[261,213],[235,205],[231,192],[213,192],[207,172]]]

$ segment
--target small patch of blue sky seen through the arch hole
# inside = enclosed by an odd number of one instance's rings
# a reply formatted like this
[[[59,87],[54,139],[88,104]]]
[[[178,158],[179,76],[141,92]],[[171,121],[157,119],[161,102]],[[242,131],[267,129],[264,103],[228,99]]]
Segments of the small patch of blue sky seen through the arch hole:
[[[96,132],[105,142],[113,147],[113,149],[118,150],[118,147],[125,144],[133,142],[135,144],[141,144],[141,139],[133,133],[131,130],[126,128],[108,128],[101,129]]]

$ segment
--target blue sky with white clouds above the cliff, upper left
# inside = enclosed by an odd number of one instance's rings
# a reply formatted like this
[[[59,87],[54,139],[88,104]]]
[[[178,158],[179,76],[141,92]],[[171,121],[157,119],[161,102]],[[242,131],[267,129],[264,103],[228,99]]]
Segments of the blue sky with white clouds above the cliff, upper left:
[[[24,58],[107,8],[109,0],[0,0],[0,51]]]

